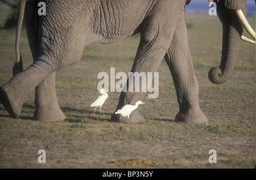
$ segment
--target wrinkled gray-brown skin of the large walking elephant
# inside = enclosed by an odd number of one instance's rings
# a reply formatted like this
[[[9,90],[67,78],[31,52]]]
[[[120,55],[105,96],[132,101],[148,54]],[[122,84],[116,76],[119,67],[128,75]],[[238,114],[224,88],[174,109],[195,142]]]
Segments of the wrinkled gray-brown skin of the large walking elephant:
[[[79,61],[84,48],[90,43],[114,43],[141,32],[131,72],[156,72],[164,58],[174,79],[180,107],[175,120],[207,123],[207,117],[199,107],[199,87],[184,21],[185,2],[47,1],[46,16],[38,16],[36,2],[27,2],[25,19],[34,62],[1,86],[3,106],[13,118],[17,118],[23,102],[36,89],[34,118],[64,120],[66,117],[59,108],[55,93],[55,72]],[[222,83],[230,76],[239,51],[242,27],[232,9],[246,9],[245,1],[218,2],[218,15],[224,28],[224,51],[221,71],[209,73],[214,83]],[[135,104],[143,97],[144,93],[122,92],[115,111],[125,104]],[[138,109],[131,113],[129,119],[113,114],[112,120],[144,122]]]

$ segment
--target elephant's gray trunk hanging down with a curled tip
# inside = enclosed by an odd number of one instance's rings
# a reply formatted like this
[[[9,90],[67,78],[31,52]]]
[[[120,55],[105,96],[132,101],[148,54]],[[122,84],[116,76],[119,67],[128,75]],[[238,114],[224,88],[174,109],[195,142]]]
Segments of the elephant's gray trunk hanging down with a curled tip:
[[[242,26],[233,10],[219,9],[218,16],[222,22],[222,56],[220,66],[209,70],[208,77],[212,83],[224,83],[231,76],[238,58]]]

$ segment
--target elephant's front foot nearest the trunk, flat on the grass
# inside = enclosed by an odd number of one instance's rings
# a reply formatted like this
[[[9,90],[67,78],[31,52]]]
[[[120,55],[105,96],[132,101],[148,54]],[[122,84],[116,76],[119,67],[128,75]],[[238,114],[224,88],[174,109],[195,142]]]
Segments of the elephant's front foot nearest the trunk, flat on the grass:
[[[197,108],[196,110],[190,110],[188,112],[178,113],[175,116],[176,122],[183,122],[183,123],[208,123],[207,116]]]

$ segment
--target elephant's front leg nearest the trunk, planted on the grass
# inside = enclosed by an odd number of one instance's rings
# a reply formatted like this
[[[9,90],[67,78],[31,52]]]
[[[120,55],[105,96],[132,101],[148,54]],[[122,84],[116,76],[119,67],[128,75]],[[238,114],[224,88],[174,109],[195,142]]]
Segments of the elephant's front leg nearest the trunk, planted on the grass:
[[[199,107],[199,87],[193,70],[184,19],[176,27],[174,38],[164,56],[172,74],[179,113],[175,120],[185,123],[207,123],[207,117]]]

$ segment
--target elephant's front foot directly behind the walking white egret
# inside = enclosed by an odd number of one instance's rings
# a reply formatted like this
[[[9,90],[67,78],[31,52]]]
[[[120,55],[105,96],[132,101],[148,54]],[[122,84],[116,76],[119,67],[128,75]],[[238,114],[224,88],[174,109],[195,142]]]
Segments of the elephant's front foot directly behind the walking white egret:
[[[144,123],[145,119],[141,116],[141,114],[139,114],[138,110],[134,110],[129,115],[129,118],[127,116],[123,117],[120,114],[113,114],[112,117],[111,117],[111,121],[119,122],[119,123],[134,123],[134,124],[138,124],[138,123]]]

